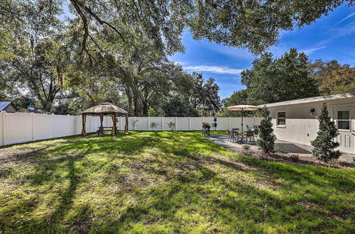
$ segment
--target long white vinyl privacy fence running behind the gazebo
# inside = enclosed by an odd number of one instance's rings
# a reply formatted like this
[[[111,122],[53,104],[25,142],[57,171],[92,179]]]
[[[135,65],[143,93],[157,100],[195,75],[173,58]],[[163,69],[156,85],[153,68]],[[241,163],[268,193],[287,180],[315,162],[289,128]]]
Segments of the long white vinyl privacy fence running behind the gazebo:
[[[261,118],[244,118],[244,126],[260,124]],[[155,128],[151,128],[151,123]],[[214,123],[212,117],[129,117],[129,130],[170,130],[168,123],[175,123],[175,130],[202,130],[202,122]],[[125,118],[119,117],[117,126],[124,129]],[[112,126],[111,117],[104,118],[105,127]],[[99,117],[87,116],[87,133],[97,131]],[[241,128],[241,118],[218,117],[216,130]],[[246,127],[244,127],[246,128]],[[212,128],[212,130],[215,130]],[[25,143],[33,140],[78,135],[82,132],[82,116],[59,116],[36,113],[0,112],[0,145]]]

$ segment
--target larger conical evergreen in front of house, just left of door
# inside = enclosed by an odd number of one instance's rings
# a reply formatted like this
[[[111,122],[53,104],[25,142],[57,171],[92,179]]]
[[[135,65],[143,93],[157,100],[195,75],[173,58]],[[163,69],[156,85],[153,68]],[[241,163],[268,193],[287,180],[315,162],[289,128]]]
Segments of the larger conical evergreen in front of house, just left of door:
[[[339,143],[334,142],[334,138],[339,135],[337,126],[329,117],[327,104],[323,104],[320,112],[320,130],[317,132],[317,138],[312,140],[313,145],[312,154],[319,160],[328,162],[329,160],[336,160],[342,155],[339,150],[334,150],[339,147]]]

